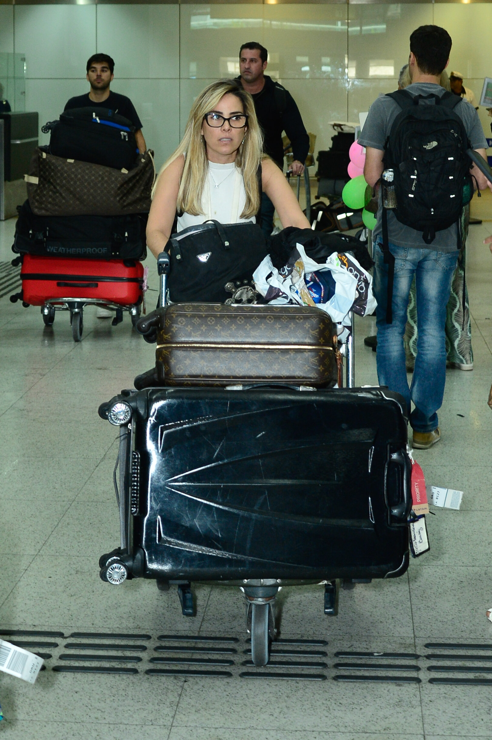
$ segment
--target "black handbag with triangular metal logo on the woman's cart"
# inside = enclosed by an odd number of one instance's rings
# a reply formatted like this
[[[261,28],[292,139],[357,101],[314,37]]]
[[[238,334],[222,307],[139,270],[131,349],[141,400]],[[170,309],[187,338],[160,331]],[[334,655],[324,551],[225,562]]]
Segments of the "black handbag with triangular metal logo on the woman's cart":
[[[268,254],[257,223],[218,221],[173,234],[165,249],[171,258],[168,286],[172,303],[223,303],[231,297],[226,283],[250,282]]]

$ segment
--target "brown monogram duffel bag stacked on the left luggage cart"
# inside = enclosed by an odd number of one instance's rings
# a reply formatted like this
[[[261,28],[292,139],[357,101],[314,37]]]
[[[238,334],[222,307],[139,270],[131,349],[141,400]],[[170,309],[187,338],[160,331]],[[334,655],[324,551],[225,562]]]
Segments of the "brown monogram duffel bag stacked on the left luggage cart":
[[[138,155],[129,172],[90,162],[55,157],[36,149],[27,184],[33,213],[38,216],[101,215],[148,212],[154,181],[152,152]]]

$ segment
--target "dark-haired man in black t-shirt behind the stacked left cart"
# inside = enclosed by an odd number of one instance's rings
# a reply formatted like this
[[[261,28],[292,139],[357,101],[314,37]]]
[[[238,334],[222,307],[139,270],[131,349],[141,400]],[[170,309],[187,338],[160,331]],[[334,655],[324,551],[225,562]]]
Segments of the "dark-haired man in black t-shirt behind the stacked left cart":
[[[87,61],[87,81],[90,83],[90,91],[85,95],[76,95],[70,98],[64,110],[71,108],[84,108],[87,106],[98,106],[109,108],[119,115],[124,115],[135,126],[135,139],[140,152],[145,152],[146,144],[142,134],[142,124],[132,101],[126,95],[109,90],[112,83],[115,62],[107,54],[93,54]]]

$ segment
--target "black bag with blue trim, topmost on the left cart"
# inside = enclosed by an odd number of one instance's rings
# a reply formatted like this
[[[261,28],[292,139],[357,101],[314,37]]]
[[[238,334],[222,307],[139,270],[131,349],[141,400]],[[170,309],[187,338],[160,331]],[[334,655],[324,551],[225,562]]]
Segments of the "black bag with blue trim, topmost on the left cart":
[[[132,169],[138,149],[135,126],[109,108],[84,107],[65,110],[59,121],[41,128],[50,132],[50,154],[64,159]]]

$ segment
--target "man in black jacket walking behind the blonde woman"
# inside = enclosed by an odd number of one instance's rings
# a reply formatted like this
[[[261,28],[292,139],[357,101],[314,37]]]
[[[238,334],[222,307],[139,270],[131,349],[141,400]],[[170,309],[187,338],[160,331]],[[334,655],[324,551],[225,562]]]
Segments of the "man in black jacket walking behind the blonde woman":
[[[294,161],[289,169],[293,175],[302,175],[309,152],[309,135],[300,117],[292,95],[285,87],[265,75],[268,52],[257,41],[243,44],[239,50],[240,76],[237,81],[255,101],[255,110],[265,138],[266,154],[283,169],[282,133],[292,144]],[[261,228],[267,236],[273,230],[274,206],[263,193],[261,201]]]

